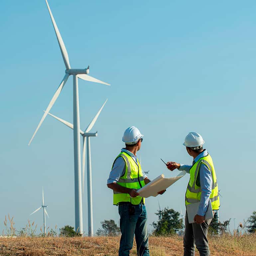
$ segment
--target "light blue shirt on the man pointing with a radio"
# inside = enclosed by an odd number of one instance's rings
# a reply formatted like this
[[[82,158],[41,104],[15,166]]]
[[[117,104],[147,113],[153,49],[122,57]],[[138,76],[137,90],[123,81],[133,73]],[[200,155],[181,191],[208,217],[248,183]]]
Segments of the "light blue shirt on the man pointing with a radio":
[[[208,155],[208,152],[205,149],[193,160],[193,164],[196,163],[199,160],[199,158],[205,157],[207,155]],[[181,167],[179,170],[190,173],[191,167],[192,165],[181,164]],[[200,199],[200,204],[198,207],[197,214],[200,216],[204,216],[209,204],[211,188],[212,188],[212,177],[211,177],[211,172],[206,165],[200,165],[199,175],[200,175],[199,178],[200,178],[200,187],[201,187],[202,193],[201,193],[201,199]]]

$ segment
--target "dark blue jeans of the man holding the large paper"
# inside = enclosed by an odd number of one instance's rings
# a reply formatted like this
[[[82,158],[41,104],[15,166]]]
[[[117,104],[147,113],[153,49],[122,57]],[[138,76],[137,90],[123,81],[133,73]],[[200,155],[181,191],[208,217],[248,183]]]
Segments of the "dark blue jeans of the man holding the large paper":
[[[149,256],[147,211],[144,204],[133,205],[121,203],[118,205],[120,215],[121,239],[119,256],[129,256],[133,245],[133,237],[137,245],[138,256]]]

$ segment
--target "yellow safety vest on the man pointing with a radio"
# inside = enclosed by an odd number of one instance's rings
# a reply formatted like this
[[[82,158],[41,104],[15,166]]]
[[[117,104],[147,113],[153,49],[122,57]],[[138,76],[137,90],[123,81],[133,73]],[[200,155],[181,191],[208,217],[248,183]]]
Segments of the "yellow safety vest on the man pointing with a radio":
[[[198,187],[196,185],[196,179],[199,173],[200,165],[206,165],[211,172],[212,187],[211,187],[210,201],[211,201],[212,210],[218,210],[220,206],[218,184],[217,184],[217,178],[216,178],[213,162],[209,154],[205,157],[201,157],[194,165],[192,165],[190,169],[190,181],[189,181],[187,192],[186,192],[185,203],[186,205],[190,203],[196,203],[196,202],[199,202],[201,199],[201,193],[202,193],[201,187]]]

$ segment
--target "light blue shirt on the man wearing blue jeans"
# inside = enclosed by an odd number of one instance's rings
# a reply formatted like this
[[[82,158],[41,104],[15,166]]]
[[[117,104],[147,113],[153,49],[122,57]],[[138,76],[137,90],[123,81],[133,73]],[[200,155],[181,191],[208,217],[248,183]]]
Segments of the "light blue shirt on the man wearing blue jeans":
[[[125,152],[129,154],[132,157],[132,159],[135,161],[135,163],[138,165],[138,162],[137,162],[138,158],[132,152],[130,152],[125,148],[122,148],[121,152]],[[119,181],[120,177],[122,177],[125,173],[125,167],[126,167],[125,165],[126,164],[124,162],[124,159],[121,156],[115,160],[113,168],[109,174],[107,184],[117,183]],[[148,178],[143,171],[142,171],[142,174],[143,174],[143,179]]]

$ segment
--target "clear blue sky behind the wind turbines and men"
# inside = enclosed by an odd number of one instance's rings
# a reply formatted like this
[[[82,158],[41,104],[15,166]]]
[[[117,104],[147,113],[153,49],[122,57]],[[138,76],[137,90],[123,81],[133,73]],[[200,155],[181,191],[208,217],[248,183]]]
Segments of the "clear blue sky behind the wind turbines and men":
[[[149,178],[171,177],[165,161],[192,163],[182,145],[200,133],[211,154],[221,198],[220,220],[230,228],[255,209],[255,1],[49,0],[72,67],[111,86],[79,80],[84,130],[106,98],[91,139],[94,232],[100,221],[118,222],[106,181],[123,147],[123,131],[144,134],[141,151]],[[74,226],[73,133],[48,116],[28,142],[64,76],[64,63],[44,0],[2,1],[0,220],[16,228],[27,219],[42,225],[42,186],[47,225]],[[72,79],[51,112],[72,122]],[[148,198],[148,224],[161,207],[185,209],[186,175],[157,198]],[[86,182],[86,180],[85,180]],[[86,188],[86,186],[85,186]],[[83,196],[87,232],[87,195]],[[0,230],[3,222],[0,221]],[[152,229],[152,226],[149,226]]]

